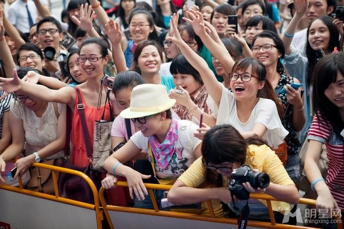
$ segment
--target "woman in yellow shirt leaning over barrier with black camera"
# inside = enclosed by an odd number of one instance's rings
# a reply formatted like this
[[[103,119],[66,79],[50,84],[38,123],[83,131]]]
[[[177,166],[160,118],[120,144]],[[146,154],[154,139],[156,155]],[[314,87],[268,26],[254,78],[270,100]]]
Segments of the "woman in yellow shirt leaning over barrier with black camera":
[[[205,134],[201,152],[202,157],[197,159],[173,184],[168,193],[170,202],[188,204],[212,200],[214,211],[221,216],[222,206],[218,201],[220,200],[228,204],[232,211],[240,214],[242,207],[246,205],[246,200],[231,198],[228,181],[235,169],[246,164],[251,169],[267,173],[270,184],[264,189],[254,189],[249,182],[241,185],[250,193],[263,192],[280,200],[271,202],[273,210],[281,216],[280,220],[283,219],[281,213],[286,209],[291,209],[288,203],[297,204],[299,196],[294,183],[288,177],[275,152],[266,145],[263,139],[257,136],[244,139],[234,127],[228,124],[214,126]],[[203,183],[204,181],[207,182]],[[201,188],[198,188],[199,186]],[[248,203],[249,217],[256,219],[269,217],[265,200],[249,199]],[[202,213],[208,213],[204,205]]]

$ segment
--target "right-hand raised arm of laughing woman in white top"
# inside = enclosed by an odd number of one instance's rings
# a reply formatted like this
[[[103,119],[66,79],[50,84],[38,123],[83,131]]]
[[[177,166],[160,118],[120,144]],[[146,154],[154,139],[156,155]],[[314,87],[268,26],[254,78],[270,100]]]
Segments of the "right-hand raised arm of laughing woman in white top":
[[[183,17],[183,20],[192,25],[192,28],[194,29],[195,33],[201,38],[205,47],[214,57],[216,57],[220,61],[225,71],[230,73],[235,62],[228,52],[223,52],[225,46],[223,44],[219,45],[221,41],[219,43],[216,43],[206,32],[201,12],[188,10],[186,11],[186,15],[188,17]]]

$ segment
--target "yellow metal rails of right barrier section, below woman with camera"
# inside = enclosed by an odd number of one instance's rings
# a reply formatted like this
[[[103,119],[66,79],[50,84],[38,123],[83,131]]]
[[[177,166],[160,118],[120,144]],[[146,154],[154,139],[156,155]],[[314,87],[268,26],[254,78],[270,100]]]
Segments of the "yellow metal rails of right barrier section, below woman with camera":
[[[127,184],[127,182],[124,182],[124,181],[118,181],[116,183],[116,186],[128,187],[128,184]],[[119,212],[128,212],[128,213],[146,214],[146,215],[166,216],[166,217],[173,217],[173,218],[180,218],[180,219],[199,220],[199,221],[206,221],[206,222],[237,225],[237,219],[224,218],[224,217],[216,218],[210,200],[207,201],[207,205],[209,207],[209,212],[211,215],[210,217],[209,216],[201,216],[198,214],[189,214],[189,213],[172,212],[172,211],[161,211],[161,210],[159,210],[158,204],[155,200],[155,197],[153,194],[153,189],[170,190],[170,188],[172,186],[171,185],[161,185],[161,184],[145,184],[145,187],[148,190],[148,193],[149,193],[150,198],[152,200],[154,209],[143,209],[143,208],[108,205],[106,203],[106,200],[104,197],[104,191],[105,190],[103,188],[100,189],[100,191],[99,191],[100,202],[103,206],[103,211],[104,211],[105,216],[106,216],[106,218],[110,224],[111,229],[114,229],[114,224],[113,224],[111,217],[109,215],[109,211],[119,211]],[[278,228],[278,229],[307,229],[307,228],[309,228],[309,227],[303,227],[303,226],[277,224],[275,221],[274,212],[273,212],[272,207],[271,207],[271,200],[277,200],[276,198],[271,197],[271,196],[266,195],[266,194],[251,194],[250,198],[266,200],[270,219],[271,219],[271,223],[249,220],[247,223],[247,226],[258,227],[258,228],[272,228],[272,229],[275,229],[275,228]],[[315,205],[315,200],[300,198],[299,203]],[[338,220],[339,218],[336,217],[336,219]],[[337,228],[343,229],[343,222],[342,221],[337,223]]]

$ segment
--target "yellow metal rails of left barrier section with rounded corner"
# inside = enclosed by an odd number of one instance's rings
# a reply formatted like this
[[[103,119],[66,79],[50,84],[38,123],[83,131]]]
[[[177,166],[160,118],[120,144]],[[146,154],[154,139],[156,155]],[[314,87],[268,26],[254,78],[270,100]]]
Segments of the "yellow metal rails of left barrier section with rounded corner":
[[[29,195],[29,196],[34,196],[34,197],[38,197],[38,198],[43,198],[43,199],[47,199],[47,200],[58,201],[58,202],[71,204],[74,206],[83,207],[83,208],[87,208],[87,209],[91,209],[91,210],[95,210],[95,217],[97,220],[98,229],[103,228],[102,220],[104,219],[104,216],[103,216],[102,207],[101,207],[100,202],[99,202],[98,190],[95,187],[93,181],[84,172],[79,172],[76,170],[71,170],[71,169],[66,169],[63,167],[46,165],[43,163],[36,163],[36,162],[33,163],[31,166],[42,168],[42,169],[48,169],[48,170],[52,171],[55,195],[49,195],[49,194],[45,194],[45,193],[40,193],[40,192],[24,189],[22,179],[20,177],[18,177],[19,187],[12,187],[9,185],[0,185],[0,189],[4,189],[4,190],[16,192],[16,193],[21,193],[21,194],[25,194],[25,195]],[[81,201],[77,201],[77,200],[70,200],[67,198],[60,197],[59,193],[58,193],[58,187],[57,187],[57,173],[56,172],[65,172],[65,173],[69,173],[69,174],[73,174],[73,175],[82,177],[87,182],[87,184],[89,185],[89,187],[92,190],[92,194],[94,197],[94,204],[85,203],[85,202],[81,202]]]

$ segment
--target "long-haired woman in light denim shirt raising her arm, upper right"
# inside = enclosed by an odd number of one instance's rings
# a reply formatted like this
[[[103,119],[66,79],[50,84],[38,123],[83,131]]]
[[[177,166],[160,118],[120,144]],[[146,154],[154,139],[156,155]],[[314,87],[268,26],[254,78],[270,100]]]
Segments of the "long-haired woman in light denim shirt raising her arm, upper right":
[[[291,19],[285,33],[282,35],[283,45],[286,50],[286,57],[284,63],[287,72],[305,86],[304,93],[304,110],[306,123],[304,128],[299,133],[299,139],[303,142],[307,136],[307,131],[310,128],[312,114],[311,111],[311,94],[310,86],[313,78],[315,65],[323,55],[328,55],[337,47],[341,50],[339,36],[344,36],[343,22],[339,19],[333,20],[329,16],[320,16],[315,18],[307,29],[307,43],[306,43],[306,57],[302,56],[301,52],[293,46],[291,41],[297,24],[301,20],[305,10],[308,7],[307,0],[295,0],[295,15]]]

